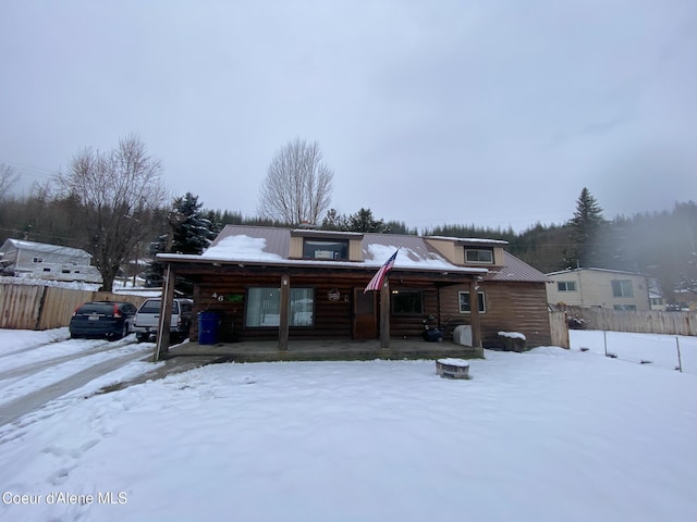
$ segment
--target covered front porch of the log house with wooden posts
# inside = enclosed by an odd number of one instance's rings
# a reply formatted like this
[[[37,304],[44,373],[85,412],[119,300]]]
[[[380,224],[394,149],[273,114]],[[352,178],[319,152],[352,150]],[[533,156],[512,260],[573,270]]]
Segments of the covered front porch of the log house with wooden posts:
[[[380,290],[364,293],[375,270],[357,263],[231,262],[192,256],[158,256],[166,262],[163,299],[154,360],[171,356],[210,353],[236,361],[420,359],[482,357],[478,306],[472,303],[468,324],[472,346],[452,341],[428,343],[421,338],[424,318],[440,322],[440,291],[465,286],[470,296],[486,273],[482,269],[393,269]],[[223,335],[211,344],[191,341],[169,348],[174,282],[184,276],[195,284],[194,311],[216,312]],[[391,287],[392,285],[392,287]],[[276,288],[274,326],[252,324],[249,293]],[[291,290],[310,289],[311,324],[293,324]],[[418,294],[423,302],[414,313],[394,314],[391,302],[403,289]],[[307,313],[307,312],[305,312]],[[195,318],[196,320],[196,318]],[[220,341],[219,341],[220,340]],[[170,353],[171,351],[171,353]]]

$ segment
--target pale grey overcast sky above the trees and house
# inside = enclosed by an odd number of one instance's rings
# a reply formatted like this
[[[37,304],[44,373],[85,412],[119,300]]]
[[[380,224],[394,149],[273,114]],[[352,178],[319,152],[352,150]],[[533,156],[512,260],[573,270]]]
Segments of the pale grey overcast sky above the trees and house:
[[[255,215],[317,140],[332,207],[408,226],[697,200],[694,0],[0,2],[0,163],[138,133],[173,196]]]

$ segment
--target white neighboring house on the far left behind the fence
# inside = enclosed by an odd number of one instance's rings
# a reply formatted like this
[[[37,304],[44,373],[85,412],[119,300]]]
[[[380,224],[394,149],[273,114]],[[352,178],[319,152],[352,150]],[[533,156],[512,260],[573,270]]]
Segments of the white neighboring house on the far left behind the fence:
[[[78,248],[8,239],[0,247],[0,264],[19,276],[44,279],[101,283],[91,256]]]

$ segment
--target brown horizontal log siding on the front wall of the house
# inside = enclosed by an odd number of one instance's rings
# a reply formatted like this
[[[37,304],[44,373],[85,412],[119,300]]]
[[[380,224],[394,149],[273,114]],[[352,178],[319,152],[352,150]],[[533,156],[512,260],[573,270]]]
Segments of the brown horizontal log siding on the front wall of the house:
[[[200,277],[194,295],[195,313],[199,311],[220,314],[218,340],[222,343],[243,340],[278,339],[277,327],[254,328],[245,326],[245,301],[250,287],[280,287],[279,274],[255,274],[250,277]],[[289,338],[299,339],[351,339],[353,335],[353,289],[363,288],[363,279],[332,275],[317,281],[309,273],[291,276],[291,288],[315,289],[314,326],[290,327]],[[457,324],[469,324],[469,314],[460,313],[458,295],[468,290],[467,285],[437,288],[424,281],[395,279],[391,290],[419,290],[423,296],[423,313],[400,314],[392,312],[390,333],[393,338],[418,338],[424,333],[424,321],[428,315],[440,318],[447,327],[447,337]],[[515,331],[525,334],[528,346],[551,344],[549,313],[543,283],[488,283],[482,285],[487,299],[487,312],[480,314],[485,346],[498,344],[498,332]],[[339,299],[330,294],[339,294]],[[213,297],[215,296],[215,297]],[[233,297],[236,296],[236,299]],[[376,299],[379,311],[379,298]],[[379,324],[379,312],[376,322]],[[376,328],[376,338],[379,335]],[[197,322],[192,328],[192,339],[198,336]]]

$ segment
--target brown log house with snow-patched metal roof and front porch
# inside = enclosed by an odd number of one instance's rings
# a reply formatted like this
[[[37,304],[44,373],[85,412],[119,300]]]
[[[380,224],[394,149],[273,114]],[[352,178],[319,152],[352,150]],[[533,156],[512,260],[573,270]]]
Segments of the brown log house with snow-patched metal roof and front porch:
[[[523,333],[528,346],[548,345],[548,278],[505,252],[505,245],[228,225],[203,254],[158,260],[166,289],[175,276],[194,282],[194,311],[219,314],[223,343],[279,339],[281,349],[289,338],[389,343],[420,337],[433,323],[447,336],[456,325],[470,325],[473,346],[499,345],[500,331]],[[389,285],[365,293],[398,248]]]

